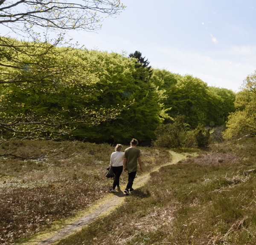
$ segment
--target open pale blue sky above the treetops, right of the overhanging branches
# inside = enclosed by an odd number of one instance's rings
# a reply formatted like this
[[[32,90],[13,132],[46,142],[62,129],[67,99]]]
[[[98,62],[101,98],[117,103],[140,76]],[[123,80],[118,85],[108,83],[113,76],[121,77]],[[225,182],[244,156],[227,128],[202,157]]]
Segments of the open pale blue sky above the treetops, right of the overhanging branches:
[[[97,32],[70,31],[87,49],[140,51],[153,68],[239,91],[256,70],[256,0],[121,0]]]

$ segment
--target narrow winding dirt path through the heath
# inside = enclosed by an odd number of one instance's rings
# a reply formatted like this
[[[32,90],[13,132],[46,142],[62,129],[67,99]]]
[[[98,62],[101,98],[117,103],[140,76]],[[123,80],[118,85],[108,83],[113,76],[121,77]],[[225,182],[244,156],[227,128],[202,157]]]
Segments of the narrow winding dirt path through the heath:
[[[172,162],[169,162],[165,165],[161,165],[159,167],[154,168],[151,172],[158,171],[161,167],[166,165],[175,164],[178,161],[184,159],[188,154],[177,154],[173,151],[170,151],[173,156]],[[145,183],[150,178],[150,173],[143,174],[134,179],[134,188],[139,188],[140,186],[145,185]],[[124,186],[121,186],[121,190],[125,189]],[[65,222],[62,228],[56,227],[51,233],[47,234],[38,234],[35,238],[31,239],[29,242],[24,244],[26,245],[50,245],[55,242],[58,242],[60,239],[73,234],[85,225],[92,222],[94,219],[105,216],[109,214],[113,209],[117,206],[121,205],[124,202],[125,194],[122,191],[119,191],[116,194],[109,194],[107,197],[101,199],[96,205],[93,205],[86,213],[80,214],[76,219],[69,220],[69,222]]]

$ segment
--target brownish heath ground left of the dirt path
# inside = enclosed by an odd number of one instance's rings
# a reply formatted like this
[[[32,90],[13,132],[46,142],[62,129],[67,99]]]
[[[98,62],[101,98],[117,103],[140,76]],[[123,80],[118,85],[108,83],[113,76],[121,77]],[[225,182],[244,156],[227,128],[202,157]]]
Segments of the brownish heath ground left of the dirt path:
[[[13,244],[74,217],[105,197],[113,183],[105,177],[111,145],[8,142],[0,146],[0,154],[10,148],[20,158],[0,158],[0,243]],[[145,172],[170,160],[166,149],[140,149]],[[33,159],[23,160],[29,156]],[[127,176],[120,181],[126,183]]]

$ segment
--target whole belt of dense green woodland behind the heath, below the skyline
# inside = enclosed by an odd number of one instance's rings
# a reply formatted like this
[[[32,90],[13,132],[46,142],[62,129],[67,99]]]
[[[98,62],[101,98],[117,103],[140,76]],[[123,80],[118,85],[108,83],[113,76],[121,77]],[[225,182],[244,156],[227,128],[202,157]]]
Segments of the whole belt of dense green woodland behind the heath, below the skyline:
[[[250,91],[236,98],[233,91],[192,75],[153,69],[139,51],[127,56],[2,38],[1,62],[6,140],[124,143],[136,137],[143,142],[156,140],[157,128],[172,125],[177,117],[189,131],[223,125],[230,113],[232,119],[249,110]]]

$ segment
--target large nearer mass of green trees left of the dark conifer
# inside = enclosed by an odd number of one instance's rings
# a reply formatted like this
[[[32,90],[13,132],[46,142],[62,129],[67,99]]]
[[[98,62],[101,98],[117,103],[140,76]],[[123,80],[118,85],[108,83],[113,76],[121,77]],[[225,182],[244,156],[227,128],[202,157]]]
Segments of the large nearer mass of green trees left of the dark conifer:
[[[26,48],[31,50],[41,48],[29,45]],[[167,117],[160,103],[163,91],[149,81],[147,69],[137,66],[136,59],[116,53],[51,48],[51,52],[34,57],[38,66],[29,56],[15,54],[29,68],[19,71],[20,80],[26,78],[25,82],[1,85],[5,93],[0,114],[5,127],[2,124],[0,130],[6,138],[14,134],[94,142],[154,138],[154,130]],[[52,68],[49,62],[54,63]],[[143,72],[147,76],[141,80]],[[17,69],[11,69],[10,75],[17,79]],[[3,80],[5,76],[2,74]]]

